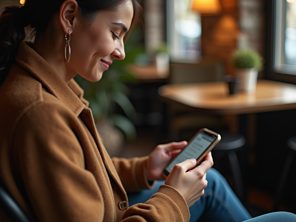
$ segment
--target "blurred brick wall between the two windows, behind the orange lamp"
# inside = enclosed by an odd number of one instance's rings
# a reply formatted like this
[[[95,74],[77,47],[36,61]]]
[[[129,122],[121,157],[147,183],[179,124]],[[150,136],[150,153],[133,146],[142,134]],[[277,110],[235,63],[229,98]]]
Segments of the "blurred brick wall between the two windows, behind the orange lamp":
[[[221,6],[221,15],[202,16],[202,56],[221,59],[232,74],[235,49],[264,52],[264,0],[221,0]]]

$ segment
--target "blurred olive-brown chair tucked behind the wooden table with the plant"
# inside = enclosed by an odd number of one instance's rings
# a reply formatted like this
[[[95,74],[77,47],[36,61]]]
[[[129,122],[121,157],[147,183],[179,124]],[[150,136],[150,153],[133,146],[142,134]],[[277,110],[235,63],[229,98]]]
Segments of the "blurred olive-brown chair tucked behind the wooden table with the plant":
[[[169,83],[193,83],[222,81],[225,75],[224,64],[213,59],[203,59],[199,63],[170,63]],[[221,128],[225,123],[221,117],[207,114],[197,114],[177,106],[170,105],[168,122],[171,139],[180,138],[179,132],[184,128],[207,127]]]

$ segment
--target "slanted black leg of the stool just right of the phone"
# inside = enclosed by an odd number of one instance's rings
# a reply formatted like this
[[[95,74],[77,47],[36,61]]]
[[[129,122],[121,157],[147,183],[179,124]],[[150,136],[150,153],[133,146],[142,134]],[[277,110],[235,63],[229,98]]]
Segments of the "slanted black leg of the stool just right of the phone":
[[[244,184],[242,181],[242,174],[236,152],[228,152],[228,158],[231,165],[237,197],[239,198],[239,200],[244,202]]]

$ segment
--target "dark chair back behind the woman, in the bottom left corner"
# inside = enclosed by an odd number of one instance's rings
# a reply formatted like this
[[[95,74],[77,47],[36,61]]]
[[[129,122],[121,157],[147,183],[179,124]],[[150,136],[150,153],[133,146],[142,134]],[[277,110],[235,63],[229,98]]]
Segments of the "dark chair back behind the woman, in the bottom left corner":
[[[0,181],[0,211],[9,222],[30,222]]]

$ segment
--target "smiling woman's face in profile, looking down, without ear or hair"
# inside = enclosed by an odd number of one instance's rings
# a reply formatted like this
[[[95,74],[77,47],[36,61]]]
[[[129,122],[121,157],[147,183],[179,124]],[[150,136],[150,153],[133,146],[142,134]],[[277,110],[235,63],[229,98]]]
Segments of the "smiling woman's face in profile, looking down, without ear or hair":
[[[68,71],[96,82],[114,59],[124,59],[123,37],[131,26],[133,4],[126,1],[116,11],[99,11],[95,22],[85,27],[80,19],[71,33]]]

